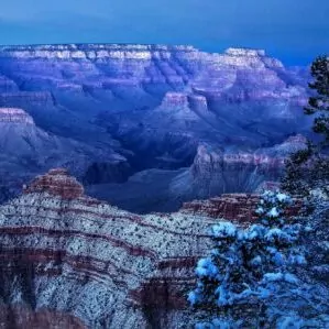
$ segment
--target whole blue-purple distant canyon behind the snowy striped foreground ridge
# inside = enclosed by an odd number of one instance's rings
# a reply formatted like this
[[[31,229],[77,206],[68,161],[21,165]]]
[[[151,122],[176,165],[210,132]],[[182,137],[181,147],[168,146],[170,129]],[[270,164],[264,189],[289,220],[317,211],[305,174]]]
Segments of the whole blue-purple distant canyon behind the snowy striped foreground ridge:
[[[2,46],[0,199],[53,167],[140,213],[255,191],[305,146],[308,79],[261,50]]]

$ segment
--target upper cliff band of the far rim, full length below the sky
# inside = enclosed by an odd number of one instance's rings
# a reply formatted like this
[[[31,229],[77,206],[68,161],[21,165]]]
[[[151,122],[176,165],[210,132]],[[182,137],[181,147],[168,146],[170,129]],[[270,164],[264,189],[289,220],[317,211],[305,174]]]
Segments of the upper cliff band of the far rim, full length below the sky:
[[[298,73],[286,70],[261,50],[229,48],[223,54],[208,54],[184,45],[2,46],[0,68],[30,91],[119,91],[116,87],[142,84],[146,88],[151,85],[145,91],[160,97],[163,91],[194,89],[224,100],[305,99]],[[156,90],[160,85],[166,90]]]

